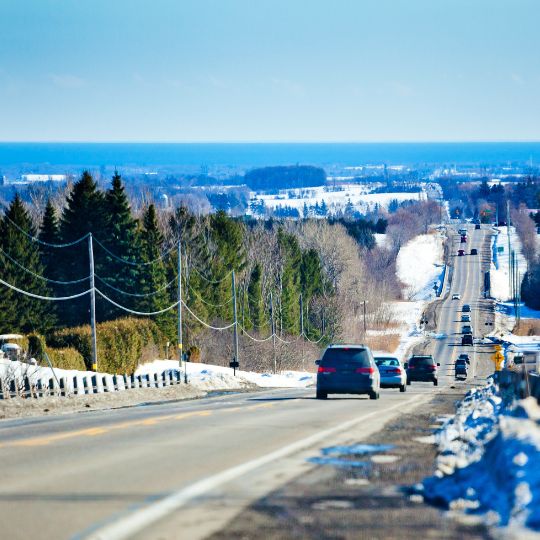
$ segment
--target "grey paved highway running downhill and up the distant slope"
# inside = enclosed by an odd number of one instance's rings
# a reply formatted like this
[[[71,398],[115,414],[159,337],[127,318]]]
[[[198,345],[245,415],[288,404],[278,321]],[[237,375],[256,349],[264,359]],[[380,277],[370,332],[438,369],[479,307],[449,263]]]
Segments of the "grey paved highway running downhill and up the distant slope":
[[[468,251],[481,253],[487,234],[471,231]],[[481,259],[455,259],[451,293],[462,300],[442,303],[438,332],[447,337],[432,340],[439,387],[382,390],[378,401],[268,390],[0,422],[2,537],[191,540],[219,530],[314,467],[307,459],[321,447],[358,442],[454,383],[458,307],[472,305],[475,328],[482,320]],[[468,349],[477,375],[489,370],[486,354]]]

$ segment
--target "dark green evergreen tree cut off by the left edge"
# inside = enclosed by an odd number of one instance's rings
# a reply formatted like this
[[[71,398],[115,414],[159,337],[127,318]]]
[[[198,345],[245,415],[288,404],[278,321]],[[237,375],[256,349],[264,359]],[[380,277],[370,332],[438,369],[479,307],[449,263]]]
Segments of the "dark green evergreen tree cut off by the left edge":
[[[25,272],[11,262],[17,261],[34,274],[43,275],[38,245],[26,234],[36,236],[30,216],[22,199],[17,194],[0,220],[0,269],[4,281],[24,291],[51,296],[46,282]],[[38,300],[13,291],[2,285],[0,294],[0,333],[38,331],[47,332],[55,323],[54,311],[50,301]]]

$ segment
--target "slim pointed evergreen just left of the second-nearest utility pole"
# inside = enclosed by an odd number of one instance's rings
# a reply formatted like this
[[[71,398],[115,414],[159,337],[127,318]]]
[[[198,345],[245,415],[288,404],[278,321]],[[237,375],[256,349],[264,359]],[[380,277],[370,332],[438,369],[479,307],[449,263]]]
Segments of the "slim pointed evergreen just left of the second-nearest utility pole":
[[[143,216],[141,231],[141,253],[145,262],[158,259],[163,248],[163,234],[159,228],[156,208],[151,204]],[[145,312],[159,311],[169,305],[169,292],[164,288],[167,285],[167,269],[163,261],[156,261],[141,267],[140,285],[143,294],[156,293],[144,297],[140,308]],[[160,291],[160,292],[157,292]],[[163,333],[171,340],[176,335],[176,310],[170,310],[156,317],[156,323]]]

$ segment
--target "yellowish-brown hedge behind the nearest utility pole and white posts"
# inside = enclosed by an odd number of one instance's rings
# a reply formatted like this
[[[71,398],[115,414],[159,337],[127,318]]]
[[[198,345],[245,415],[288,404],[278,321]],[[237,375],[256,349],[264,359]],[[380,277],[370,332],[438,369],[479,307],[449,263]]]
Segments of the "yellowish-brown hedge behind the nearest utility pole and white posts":
[[[149,319],[117,319],[97,325],[98,369],[109,373],[133,373],[141,361],[163,354],[167,338]],[[92,369],[92,335],[90,326],[65,328],[49,337],[49,346],[75,349],[86,369]],[[147,356],[147,358],[145,358]]]

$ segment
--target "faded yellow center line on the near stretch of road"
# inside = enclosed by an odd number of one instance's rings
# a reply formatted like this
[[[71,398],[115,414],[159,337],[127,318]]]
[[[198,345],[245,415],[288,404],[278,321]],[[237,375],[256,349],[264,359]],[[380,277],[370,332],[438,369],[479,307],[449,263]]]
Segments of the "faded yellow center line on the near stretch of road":
[[[161,424],[162,422],[172,421],[172,420],[185,420],[187,418],[193,417],[206,417],[212,415],[214,412],[236,412],[236,411],[249,411],[261,408],[273,407],[274,403],[261,403],[257,405],[248,405],[246,407],[234,407],[232,409],[222,409],[222,410],[203,410],[203,411],[192,411],[181,414],[167,414],[163,416],[158,416],[154,418],[145,418],[143,420],[132,420],[128,422],[119,422],[117,424],[111,424],[109,426],[103,427],[91,427],[85,429],[77,429],[74,431],[68,431],[66,433],[57,433],[55,435],[43,435],[40,437],[31,437],[28,439],[19,439],[14,441],[7,441],[0,443],[1,448],[13,448],[13,447],[32,447],[32,446],[46,446],[48,444],[65,441],[68,439],[77,439],[80,437],[96,437],[99,435],[105,435],[113,431],[121,431],[125,429],[130,429],[134,427],[145,427],[145,426],[155,426]]]

